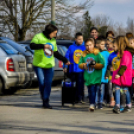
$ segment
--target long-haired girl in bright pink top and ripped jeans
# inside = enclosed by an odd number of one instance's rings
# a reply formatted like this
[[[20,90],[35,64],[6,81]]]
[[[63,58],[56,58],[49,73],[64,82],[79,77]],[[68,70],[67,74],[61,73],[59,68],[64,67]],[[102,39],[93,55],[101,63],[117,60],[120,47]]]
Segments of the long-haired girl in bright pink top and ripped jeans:
[[[120,91],[126,95],[124,111],[131,111],[131,98],[128,88],[132,85],[132,54],[125,50],[129,46],[125,36],[118,36],[114,42],[114,50],[118,51],[117,57],[112,61],[112,83],[115,84],[115,107],[113,112],[120,113]]]

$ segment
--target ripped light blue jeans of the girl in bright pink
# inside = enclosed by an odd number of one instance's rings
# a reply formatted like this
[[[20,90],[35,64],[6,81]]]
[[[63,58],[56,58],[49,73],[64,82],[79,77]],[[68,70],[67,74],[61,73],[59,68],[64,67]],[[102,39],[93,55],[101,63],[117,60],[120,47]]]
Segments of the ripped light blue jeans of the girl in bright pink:
[[[131,97],[128,91],[128,87],[120,87],[115,85],[115,102],[116,106],[120,107],[120,90],[123,90],[126,94],[126,104],[130,107],[131,106]]]

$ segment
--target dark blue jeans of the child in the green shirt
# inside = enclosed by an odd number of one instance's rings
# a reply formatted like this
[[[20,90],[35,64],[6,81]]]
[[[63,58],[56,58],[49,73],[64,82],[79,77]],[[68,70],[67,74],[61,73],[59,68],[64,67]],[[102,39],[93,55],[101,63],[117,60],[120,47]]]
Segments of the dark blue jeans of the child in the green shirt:
[[[88,95],[90,104],[95,105],[96,91],[99,90],[99,88],[100,85],[98,84],[88,86]]]

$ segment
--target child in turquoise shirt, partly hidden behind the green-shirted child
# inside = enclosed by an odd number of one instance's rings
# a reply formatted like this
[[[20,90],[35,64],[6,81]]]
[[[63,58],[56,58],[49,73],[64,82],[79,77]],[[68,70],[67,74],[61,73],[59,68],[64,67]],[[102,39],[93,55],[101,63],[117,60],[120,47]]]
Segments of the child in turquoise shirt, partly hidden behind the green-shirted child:
[[[104,58],[105,65],[102,69],[102,78],[101,78],[101,87],[96,92],[96,106],[99,109],[102,109],[102,103],[104,100],[104,92],[105,92],[105,84],[108,83],[108,79],[105,78],[107,66],[108,66],[108,58],[109,58],[109,52],[105,49],[106,41],[103,38],[97,39],[98,49],[100,50],[101,55]]]

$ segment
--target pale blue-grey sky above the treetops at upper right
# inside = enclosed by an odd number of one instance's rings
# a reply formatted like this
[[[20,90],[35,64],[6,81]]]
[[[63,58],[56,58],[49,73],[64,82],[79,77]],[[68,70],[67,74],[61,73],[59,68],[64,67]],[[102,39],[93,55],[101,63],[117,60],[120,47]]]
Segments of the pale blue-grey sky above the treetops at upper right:
[[[75,0],[77,4],[81,1],[88,0]],[[105,14],[114,22],[122,22],[126,26],[128,17],[134,19],[134,0],[94,0],[94,5],[89,12],[91,17]]]

